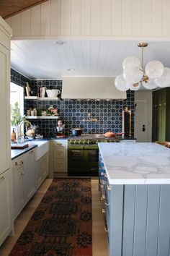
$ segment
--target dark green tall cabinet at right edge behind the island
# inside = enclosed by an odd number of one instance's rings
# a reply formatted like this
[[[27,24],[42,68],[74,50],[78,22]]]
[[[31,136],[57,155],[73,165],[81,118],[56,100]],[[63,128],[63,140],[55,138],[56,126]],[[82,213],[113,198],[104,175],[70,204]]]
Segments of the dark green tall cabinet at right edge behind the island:
[[[153,93],[152,141],[170,141],[170,88]]]

